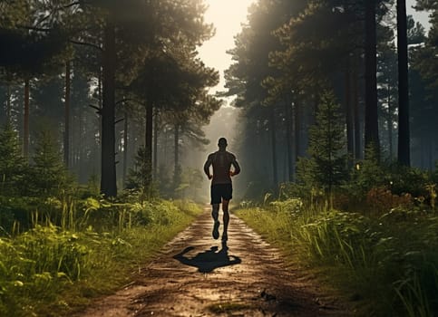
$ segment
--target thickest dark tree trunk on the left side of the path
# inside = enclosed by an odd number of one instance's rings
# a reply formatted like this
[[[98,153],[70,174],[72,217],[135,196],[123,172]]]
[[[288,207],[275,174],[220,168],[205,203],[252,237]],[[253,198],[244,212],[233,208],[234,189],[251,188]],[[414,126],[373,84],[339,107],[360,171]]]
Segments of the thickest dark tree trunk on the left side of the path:
[[[117,196],[115,168],[115,26],[108,19],[103,35],[102,174],[101,192]]]

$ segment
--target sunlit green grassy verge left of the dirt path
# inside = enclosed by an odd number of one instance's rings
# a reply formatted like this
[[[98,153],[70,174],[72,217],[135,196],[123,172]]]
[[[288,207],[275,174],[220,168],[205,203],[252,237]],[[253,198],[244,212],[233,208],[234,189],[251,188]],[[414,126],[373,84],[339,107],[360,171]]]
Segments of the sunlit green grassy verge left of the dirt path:
[[[100,228],[35,224],[23,234],[0,238],[0,315],[60,316],[80,310],[92,298],[129,283],[201,209],[157,201],[98,206],[93,212],[76,223],[104,219]]]

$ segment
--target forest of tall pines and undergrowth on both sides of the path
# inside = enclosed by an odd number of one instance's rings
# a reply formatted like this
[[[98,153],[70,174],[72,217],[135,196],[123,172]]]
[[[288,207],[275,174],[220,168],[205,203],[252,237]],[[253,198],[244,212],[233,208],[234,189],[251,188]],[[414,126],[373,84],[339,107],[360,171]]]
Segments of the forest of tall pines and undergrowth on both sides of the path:
[[[436,315],[438,2],[426,30],[404,0],[257,0],[215,93],[207,8],[0,0],[0,315],[127,283],[202,213],[220,129],[248,226],[355,315]]]

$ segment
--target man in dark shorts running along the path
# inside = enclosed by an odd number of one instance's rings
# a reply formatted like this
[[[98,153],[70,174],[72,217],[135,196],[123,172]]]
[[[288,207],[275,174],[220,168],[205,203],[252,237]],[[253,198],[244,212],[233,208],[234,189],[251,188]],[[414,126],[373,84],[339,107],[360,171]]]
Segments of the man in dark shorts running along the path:
[[[240,167],[234,154],[229,153],[227,149],[227,139],[220,138],[218,141],[219,150],[209,154],[204,164],[204,172],[211,179],[211,216],[214,220],[213,238],[219,238],[219,204],[222,203],[224,231],[222,241],[228,239],[229,228],[229,200],[232,198],[233,187],[231,177],[240,173]],[[230,170],[231,165],[233,170]],[[209,172],[209,167],[213,166],[213,175]]]

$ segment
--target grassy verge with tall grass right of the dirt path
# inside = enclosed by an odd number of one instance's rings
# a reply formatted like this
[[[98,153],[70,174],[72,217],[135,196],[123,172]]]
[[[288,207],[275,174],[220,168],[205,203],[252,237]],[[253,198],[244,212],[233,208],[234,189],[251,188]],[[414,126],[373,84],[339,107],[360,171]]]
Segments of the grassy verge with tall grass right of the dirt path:
[[[438,314],[434,213],[394,209],[366,217],[310,210],[290,200],[236,214],[295,261],[323,272],[325,281],[346,294],[356,315]]]

